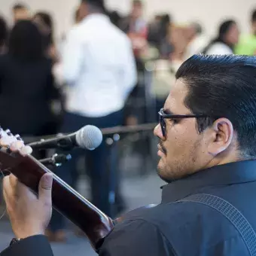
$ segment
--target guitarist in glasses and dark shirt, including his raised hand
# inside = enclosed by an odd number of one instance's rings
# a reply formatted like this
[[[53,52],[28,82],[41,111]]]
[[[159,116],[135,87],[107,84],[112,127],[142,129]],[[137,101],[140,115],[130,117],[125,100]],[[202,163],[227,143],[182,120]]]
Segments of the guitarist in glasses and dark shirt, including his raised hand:
[[[161,203],[124,215],[100,256],[255,254],[255,74],[252,56],[194,55],[183,63],[154,130],[157,172],[167,183]],[[53,255],[44,236],[52,181],[44,175],[35,197],[5,177],[8,214],[22,240],[2,256]]]

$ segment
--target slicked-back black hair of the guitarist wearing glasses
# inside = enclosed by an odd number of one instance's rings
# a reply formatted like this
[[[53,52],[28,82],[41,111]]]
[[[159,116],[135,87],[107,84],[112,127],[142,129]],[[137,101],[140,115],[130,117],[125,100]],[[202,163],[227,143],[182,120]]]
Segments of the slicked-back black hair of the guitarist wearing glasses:
[[[209,116],[197,119],[199,133],[226,117],[236,131],[241,157],[256,157],[256,56],[194,55],[176,78],[188,89],[184,105]]]

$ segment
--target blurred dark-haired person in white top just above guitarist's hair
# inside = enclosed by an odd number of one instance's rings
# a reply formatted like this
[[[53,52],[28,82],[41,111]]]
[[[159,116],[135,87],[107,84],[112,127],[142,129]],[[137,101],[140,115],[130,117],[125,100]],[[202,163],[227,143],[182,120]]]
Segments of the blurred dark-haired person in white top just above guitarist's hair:
[[[203,50],[207,55],[233,54],[234,47],[239,41],[239,28],[234,20],[226,20],[221,24],[218,37],[212,40]]]

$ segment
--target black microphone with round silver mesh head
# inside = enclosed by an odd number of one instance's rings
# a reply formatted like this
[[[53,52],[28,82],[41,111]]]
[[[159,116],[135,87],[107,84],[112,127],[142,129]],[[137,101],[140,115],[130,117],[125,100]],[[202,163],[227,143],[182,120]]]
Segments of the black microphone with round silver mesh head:
[[[102,144],[102,139],[102,132],[99,128],[87,125],[76,133],[59,136],[53,139],[41,139],[40,142],[32,142],[29,146],[33,149],[60,148],[66,151],[80,147],[93,151]]]

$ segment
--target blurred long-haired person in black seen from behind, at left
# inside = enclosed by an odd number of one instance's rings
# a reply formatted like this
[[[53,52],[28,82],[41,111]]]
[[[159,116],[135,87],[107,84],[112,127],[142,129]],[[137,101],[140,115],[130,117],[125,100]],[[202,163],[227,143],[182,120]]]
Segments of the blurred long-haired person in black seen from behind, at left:
[[[22,136],[51,134],[52,62],[44,56],[41,33],[29,20],[11,31],[7,53],[0,56],[0,120]]]

